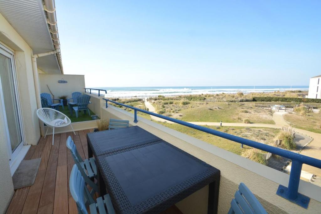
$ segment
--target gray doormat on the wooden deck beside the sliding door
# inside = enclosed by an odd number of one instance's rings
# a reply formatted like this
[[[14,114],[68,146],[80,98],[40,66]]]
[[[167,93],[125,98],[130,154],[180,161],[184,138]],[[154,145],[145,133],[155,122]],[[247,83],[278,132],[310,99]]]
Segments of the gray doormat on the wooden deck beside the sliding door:
[[[13,188],[31,186],[35,182],[41,158],[22,160],[12,176]]]

